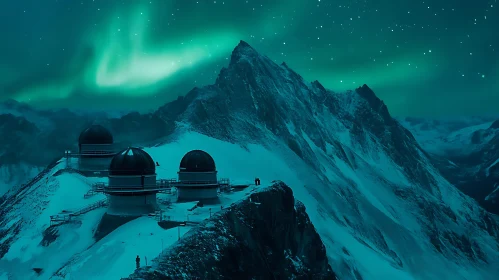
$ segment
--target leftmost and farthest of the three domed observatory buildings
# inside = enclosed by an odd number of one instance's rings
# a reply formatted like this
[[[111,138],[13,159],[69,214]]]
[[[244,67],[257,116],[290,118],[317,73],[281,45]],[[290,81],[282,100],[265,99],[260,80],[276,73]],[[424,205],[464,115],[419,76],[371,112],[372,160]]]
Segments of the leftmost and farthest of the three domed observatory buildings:
[[[78,138],[78,169],[88,175],[105,176],[116,154],[113,135],[101,125],[83,130]]]

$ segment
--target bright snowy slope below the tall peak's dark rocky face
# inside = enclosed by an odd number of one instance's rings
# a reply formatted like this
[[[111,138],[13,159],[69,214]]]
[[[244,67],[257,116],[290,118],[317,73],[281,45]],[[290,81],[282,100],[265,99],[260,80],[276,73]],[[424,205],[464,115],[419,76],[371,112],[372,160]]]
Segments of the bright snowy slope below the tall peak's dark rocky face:
[[[379,170],[378,165],[359,158],[352,168],[316,150],[324,168],[316,172],[278,143],[267,148],[256,144],[243,147],[197,133],[176,135],[175,139],[148,150],[162,166],[174,163],[158,172],[164,177],[171,176],[166,170],[175,170],[185,151],[197,148],[213,155],[222,177],[284,178],[307,207],[333,270],[342,272],[341,279],[355,279],[349,277],[356,273],[364,279],[493,279],[486,278],[489,275],[482,269],[492,272],[494,268],[481,258],[497,261],[497,232],[493,231],[497,225],[438,175],[442,198],[411,186],[400,168],[382,153],[381,160],[386,162]],[[468,218],[477,224],[469,225]],[[481,233],[469,240],[469,247],[459,247],[469,231]]]

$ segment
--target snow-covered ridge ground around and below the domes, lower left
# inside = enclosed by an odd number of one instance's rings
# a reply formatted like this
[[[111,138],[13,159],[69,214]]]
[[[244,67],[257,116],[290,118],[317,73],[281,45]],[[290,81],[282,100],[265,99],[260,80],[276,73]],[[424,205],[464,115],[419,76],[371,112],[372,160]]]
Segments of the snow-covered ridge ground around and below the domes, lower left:
[[[168,161],[158,168],[159,178],[175,177],[179,162]],[[62,172],[64,167],[64,161],[52,164],[36,180],[11,189],[0,200],[0,272],[5,271],[9,279],[120,279],[134,271],[136,255],[152,260],[162,248],[177,241],[178,234],[182,236],[190,229],[165,230],[154,216],[142,217],[96,240],[103,207],[73,217],[71,223],[51,226],[50,216],[74,213],[105,199],[102,194],[85,194],[92,183],[106,179]],[[241,200],[248,191],[221,196],[221,205]],[[160,201],[172,198],[158,196]],[[193,222],[210,216],[207,207],[188,211],[194,205],[170,205],[164,216]],[[37,268],[42,269],[39,274],[34,271]]]

